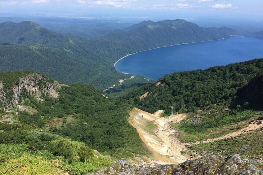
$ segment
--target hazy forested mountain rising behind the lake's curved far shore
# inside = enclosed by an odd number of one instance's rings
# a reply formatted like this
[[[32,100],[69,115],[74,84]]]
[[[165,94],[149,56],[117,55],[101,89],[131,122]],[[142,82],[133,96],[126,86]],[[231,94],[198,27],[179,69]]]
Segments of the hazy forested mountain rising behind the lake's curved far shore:
[[[100,35],[97,38],[105,44],[116,43],[118,47],[109,48],[120,53],[120,57],[122,57],[125,56],[123,54],[160,46],[221,39],[234,34],[237,32],[230,28],[203,28],[197,24],[176,19],[159,22],[143,21],[123,30],[114,30]]]

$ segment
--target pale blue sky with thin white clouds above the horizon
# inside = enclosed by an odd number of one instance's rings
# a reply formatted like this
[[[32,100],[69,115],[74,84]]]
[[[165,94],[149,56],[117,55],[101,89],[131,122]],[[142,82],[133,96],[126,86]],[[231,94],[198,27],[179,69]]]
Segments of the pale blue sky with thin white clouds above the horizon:
[[[263,0],[0,0],[0,12],[237,14],[263,18],[262,7]]]

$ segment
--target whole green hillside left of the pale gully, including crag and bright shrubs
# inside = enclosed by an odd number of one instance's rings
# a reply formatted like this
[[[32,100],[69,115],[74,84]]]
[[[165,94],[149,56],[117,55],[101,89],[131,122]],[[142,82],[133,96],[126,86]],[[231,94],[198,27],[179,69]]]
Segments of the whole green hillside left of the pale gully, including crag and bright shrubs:
[[[132,102],[88,85],[31,71],[0,73],[0,105],[3,174],[86,174],[112,163],[100,153],[112,159],[149,153],[127,121]]]

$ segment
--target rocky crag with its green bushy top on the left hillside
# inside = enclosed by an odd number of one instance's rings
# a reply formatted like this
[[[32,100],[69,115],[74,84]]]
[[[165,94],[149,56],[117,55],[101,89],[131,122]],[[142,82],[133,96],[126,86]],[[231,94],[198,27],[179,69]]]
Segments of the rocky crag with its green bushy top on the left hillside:
[[[22,74],[21,74],[22,72]],[[29,71],[7,72],[0,75],[0,106],[4,108],[17,107],[23,102],[21,94],[35,96],[38,101],[49,95],[58,98],[56,88],[65,86],[48,77]]]

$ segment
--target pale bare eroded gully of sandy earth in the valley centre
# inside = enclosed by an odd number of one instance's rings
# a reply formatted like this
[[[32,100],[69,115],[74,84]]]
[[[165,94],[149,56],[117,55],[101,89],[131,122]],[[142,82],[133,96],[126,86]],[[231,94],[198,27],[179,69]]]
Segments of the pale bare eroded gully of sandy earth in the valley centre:
[[[148,149],[153,152],[153,160],[163,164],[180,164],[188,160],[181,155],[185,146],[173,136],[175,131],[172,130],[170,122],[180,122],[186,116],[178,114],[163,118],[159,117],[160,113],[161,111],[158,111],[154,115],[134,108],[130,113],[129,122],[137,129]]]

